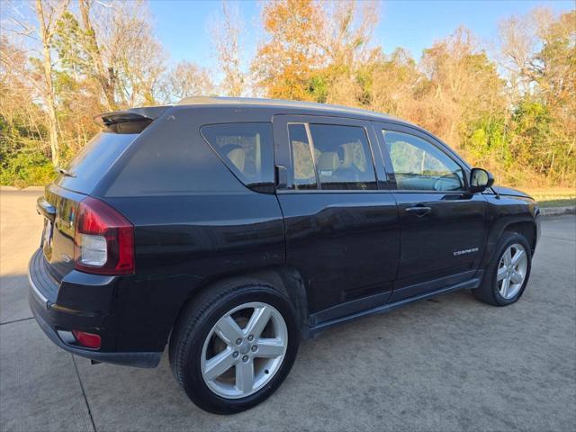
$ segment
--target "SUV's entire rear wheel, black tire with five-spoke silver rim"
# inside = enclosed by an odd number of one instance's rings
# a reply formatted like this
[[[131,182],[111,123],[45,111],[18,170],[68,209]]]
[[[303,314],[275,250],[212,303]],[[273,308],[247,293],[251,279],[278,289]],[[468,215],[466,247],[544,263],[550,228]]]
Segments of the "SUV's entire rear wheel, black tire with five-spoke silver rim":
[[[250,328],[254,335],[248,335]],[[293,304],[275,287],[251,280],[215,284],[194,298],[177,320],[170,366],[199,408],[233,414],[265,401],[284,382],[299,339]]]

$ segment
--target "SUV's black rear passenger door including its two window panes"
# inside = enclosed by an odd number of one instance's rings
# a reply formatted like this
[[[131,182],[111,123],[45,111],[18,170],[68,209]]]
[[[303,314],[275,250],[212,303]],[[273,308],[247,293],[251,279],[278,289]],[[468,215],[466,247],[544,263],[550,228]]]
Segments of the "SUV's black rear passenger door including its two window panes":
[[[370,123],[296,115],[273,122],[275,164],[286,173],[277,188],[286,259],[305,279],[311,325],[387,302],[399,221],[383,164],[374,170]]]

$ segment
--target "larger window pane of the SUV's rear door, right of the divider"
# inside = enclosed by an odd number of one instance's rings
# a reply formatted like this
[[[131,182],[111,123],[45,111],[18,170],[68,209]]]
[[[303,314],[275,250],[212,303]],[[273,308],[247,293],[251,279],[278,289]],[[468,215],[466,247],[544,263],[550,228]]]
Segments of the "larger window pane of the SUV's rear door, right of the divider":
[[[364,128],[311,124],[310,131],[322,189],[376,189]]]

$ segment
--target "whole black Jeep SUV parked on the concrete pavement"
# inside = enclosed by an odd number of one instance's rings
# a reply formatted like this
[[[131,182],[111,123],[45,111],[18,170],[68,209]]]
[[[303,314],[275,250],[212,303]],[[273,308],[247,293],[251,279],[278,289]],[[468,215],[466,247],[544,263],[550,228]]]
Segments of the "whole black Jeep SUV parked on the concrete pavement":
[[[323,329],[527,285],[536,202],[406,121],[203,97],[99,119],[38,201],[31,310],[95,362],[155,367],[167,344],[204,410],[264,401]]]

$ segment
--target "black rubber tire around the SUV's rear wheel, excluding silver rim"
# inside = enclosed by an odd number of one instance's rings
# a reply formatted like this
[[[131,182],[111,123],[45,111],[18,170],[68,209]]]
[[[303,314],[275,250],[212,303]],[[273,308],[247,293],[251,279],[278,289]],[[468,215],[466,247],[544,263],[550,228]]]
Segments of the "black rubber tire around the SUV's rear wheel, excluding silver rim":
[[[282,314],[288,329],[288,347],[280,369],[265,387],[246,398],[225,399],[211,392],[204,383],[201,369],[202,347],[212,327],[222,316],[248,302],[264,302],[275,307]],[[218,414],[233,414],[248,410],[265,401],[284,382],[298,351],[299,331],[293,306],[283,294],[266,286],[250,286],[230,293],[220,302],[216,302],[213,307],[202,314],[194,331],[181,343],[183,347],[180,349],[185,350],[185,360],[182,365],[184,391],[188,397],[203,410]]]

